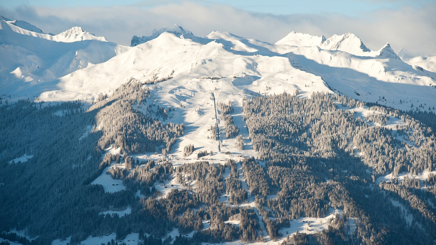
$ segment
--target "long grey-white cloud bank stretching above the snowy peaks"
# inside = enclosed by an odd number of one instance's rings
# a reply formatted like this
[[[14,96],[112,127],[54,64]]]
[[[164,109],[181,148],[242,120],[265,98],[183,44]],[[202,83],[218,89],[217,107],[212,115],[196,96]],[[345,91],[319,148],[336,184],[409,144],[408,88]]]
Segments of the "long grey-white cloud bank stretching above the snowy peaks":
[[[113,7],[19,7],[0,13],[10,19],[26,20],[45,32],[60,33],[73,26],[129,45],[133,35],[150,35],[153,29],[174,23],[203,36],[213,30],[275,43],[290,31],[324,35],[353,32],[374,50],[389,42],[418,55],[436,54],[436,3],[421,7],[403,6],[349,17],[335,13],[273,15],[253,13],[224,4],[198,2]]]

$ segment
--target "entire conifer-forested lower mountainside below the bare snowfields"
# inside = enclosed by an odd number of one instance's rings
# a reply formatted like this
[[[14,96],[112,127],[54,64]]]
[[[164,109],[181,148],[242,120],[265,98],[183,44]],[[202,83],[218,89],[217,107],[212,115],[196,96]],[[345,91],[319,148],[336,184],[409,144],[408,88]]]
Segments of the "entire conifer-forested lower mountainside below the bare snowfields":
[[[1,236],[23,244],[109,234],[137,234],[138,244],[433,243],[435,115],[297,94],[244,100],[255,157],[226,152],[228,160],[213,162],[214,152],[190,144],[180,154],[198,152],[198,161],[183,163],[174,152],[185,125],[165,121],[174,108],[135,79],[86,109],[2,98],[0,231],[11,233]],[[232,102],[220,111],[226,137],[247,147]],[[158,158],[138,156],[154,151]],[[108,175],[119,191],[94,185]]]

